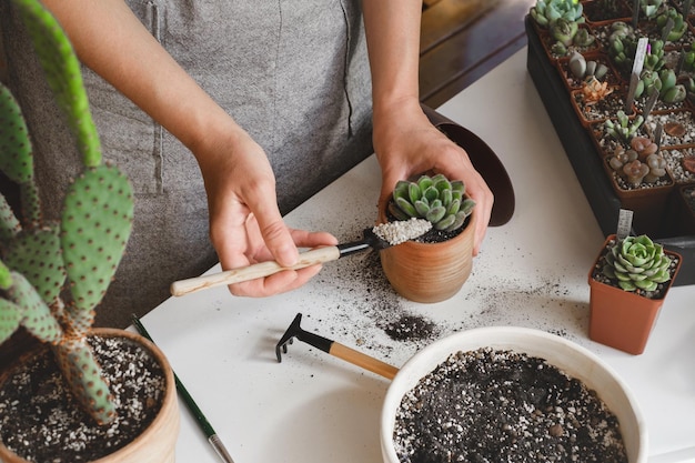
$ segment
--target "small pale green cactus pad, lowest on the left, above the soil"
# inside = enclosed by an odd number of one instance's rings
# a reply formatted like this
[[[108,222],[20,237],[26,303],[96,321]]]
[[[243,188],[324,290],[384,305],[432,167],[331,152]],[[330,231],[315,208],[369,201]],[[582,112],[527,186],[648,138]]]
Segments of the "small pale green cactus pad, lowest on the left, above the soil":
[[[24,276],[17,272],[11,274],[12,288],[8,293],[10,300],[21,310],[21,324],[43,342],[58,342],[62,329],[51,314],[51,310]]]

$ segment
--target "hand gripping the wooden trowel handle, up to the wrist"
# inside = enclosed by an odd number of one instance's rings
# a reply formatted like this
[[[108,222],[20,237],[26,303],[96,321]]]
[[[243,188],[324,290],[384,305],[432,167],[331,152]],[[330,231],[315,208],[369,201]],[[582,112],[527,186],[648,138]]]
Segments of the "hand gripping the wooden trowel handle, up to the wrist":
[[[336,244],[330,233],[285,225],[278,209],[271,165],[245,132],[233,129],[229,138],[199,148],[195,153],[205,180],[210,236],[223,270],[269,260],[290,266],[299,259],[298,246]],[[288,270],[229,288],[235,295],[266,296],[294,290],[320,270],[321,265]]]

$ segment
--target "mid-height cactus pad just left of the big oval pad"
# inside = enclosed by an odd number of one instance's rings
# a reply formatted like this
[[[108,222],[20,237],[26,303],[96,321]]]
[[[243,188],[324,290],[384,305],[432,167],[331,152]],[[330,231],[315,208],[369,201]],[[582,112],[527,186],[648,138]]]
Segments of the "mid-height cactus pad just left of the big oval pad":
[[[66,281],[57,225],[20,233],[11,242],[6,263],[23,274],[47,304],[53,303]]]

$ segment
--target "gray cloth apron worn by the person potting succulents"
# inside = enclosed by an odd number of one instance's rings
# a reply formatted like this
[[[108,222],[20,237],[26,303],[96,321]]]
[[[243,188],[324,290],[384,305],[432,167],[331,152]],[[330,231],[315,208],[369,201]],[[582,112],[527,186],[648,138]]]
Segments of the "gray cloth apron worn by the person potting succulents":
[[[51,167],[42,194],[57,213],[78,157],[17,18],[2,29],[11,84],[36,151]],[[371,85],[355,0],[274,2],[130,0],[133,11],[187,71],[265,149],[282,213],[372,152]],[[118,44],[115,44],[118,46]],[[97,324],[125,326],[163,301],[169,284],[216,262],[208,238],[200,171],[165,130],[89,70],[83,72],[104,157],[130,177],[135,223]],[[46,167],[46,165],[44,165]]]

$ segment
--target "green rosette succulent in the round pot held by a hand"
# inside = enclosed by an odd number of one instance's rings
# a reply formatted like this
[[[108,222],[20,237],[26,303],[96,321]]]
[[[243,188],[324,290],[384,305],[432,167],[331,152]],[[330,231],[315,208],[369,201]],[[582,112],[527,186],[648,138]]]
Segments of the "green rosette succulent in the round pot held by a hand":
[[[465,198],[462,181],[450,181],[439,173],[417,181],[401,180],[393,190],[389,212],[397,220],[425,219],[435,230],[459,230],[471,215],[475,201]]]

